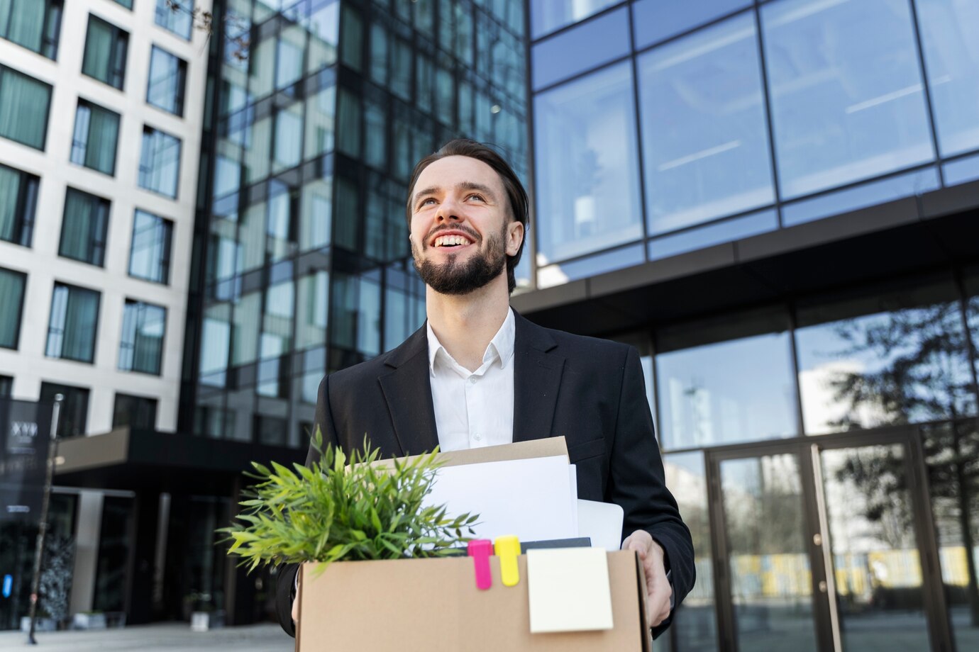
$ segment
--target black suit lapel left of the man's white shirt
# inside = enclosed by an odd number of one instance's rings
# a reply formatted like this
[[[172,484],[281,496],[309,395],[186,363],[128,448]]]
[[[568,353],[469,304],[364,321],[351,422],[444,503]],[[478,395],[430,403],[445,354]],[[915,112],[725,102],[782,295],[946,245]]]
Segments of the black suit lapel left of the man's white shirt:
[[[422,326],[389,355],[390,373],[378,377],[388,403],[400,451],[397,456],[427,453],[439,446],[429,380],[428,336]]]

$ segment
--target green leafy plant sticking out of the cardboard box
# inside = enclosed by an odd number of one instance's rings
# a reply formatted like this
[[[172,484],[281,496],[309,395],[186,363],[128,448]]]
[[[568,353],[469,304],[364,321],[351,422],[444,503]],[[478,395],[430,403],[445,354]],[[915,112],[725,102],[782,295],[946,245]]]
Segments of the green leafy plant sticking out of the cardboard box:
[[[313,447],[320,458],[310,467],[253,462],[256,473],[247,475],[256,484],[244,492],[237,522],[220,530],[231,543],[228,554],[241,556],[250,571],[320,562],[322,572],[335,561],[443,556],[469,541],[464,535],[473,534],[478,516],[450,517],[444,505],[423,504],[440,465],[438,450],[376,463],[379,451],[365,437],[363,451],[348,458],[323,448],[318,428]]]

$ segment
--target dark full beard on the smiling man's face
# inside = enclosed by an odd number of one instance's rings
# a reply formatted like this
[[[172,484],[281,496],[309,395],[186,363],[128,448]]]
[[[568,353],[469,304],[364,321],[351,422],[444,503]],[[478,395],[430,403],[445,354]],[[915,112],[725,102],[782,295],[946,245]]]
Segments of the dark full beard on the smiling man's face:
[[[467,230],[468,231],[468,230]],[[476,246],[481,239],[475,233]],[[411,256],[414,259],[415,270],[426,285],[440,294],[469,294],[498,277],[506,267],[506,252],[503,250],[503,239],[506,235],[506,224],[503,229],[490,235],[486,240],[486,250],[477,253],[464,263],[457,262],[457,254],[449,254],[448,259],[437,265],[431,260],[421,260],[421,252],[415,243],[411,243]],[[429,248],[423,245],[423,250]]]

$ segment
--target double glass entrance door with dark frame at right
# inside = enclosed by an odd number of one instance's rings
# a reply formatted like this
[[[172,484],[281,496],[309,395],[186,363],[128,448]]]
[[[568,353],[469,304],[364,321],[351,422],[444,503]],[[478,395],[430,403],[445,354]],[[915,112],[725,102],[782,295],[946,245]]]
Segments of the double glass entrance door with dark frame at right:
[[[723,647],[944,649],[920,457],[908,431],[709,453]]]

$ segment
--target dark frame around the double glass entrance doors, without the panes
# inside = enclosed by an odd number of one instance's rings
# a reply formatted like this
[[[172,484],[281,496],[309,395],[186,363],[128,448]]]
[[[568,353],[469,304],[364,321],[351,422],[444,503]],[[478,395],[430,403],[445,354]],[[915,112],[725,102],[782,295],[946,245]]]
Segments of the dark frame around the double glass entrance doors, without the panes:
[[[830,599],[831,596],[836,595],[836,588],[834,574],[829,570],[832,569],[832,546],[829,542],[828,514],[823,496],[820,453],[835,449],[894,444],[901,445],[905,451],[905,473],[908,478],[913,512],[912,527],[920,556],[924,612],[928,622],[931,647],[934,652],[951,652],[955,649],[942,584],[921,436],[922,433],[917,425],[900,425],[816,437],[766,440],[718,447],[704,452],[708,478],[708,515],[714,565],[715,611],[718,619],[718,642],[722,649],[738,652],[730,591],[728,545],[724,527],[721,462],[728,459],[796,455],[805,510],[803,534],[806,538],[812,570],[816,646],[823,652],[842,652],[842,633],[836,600]]]

